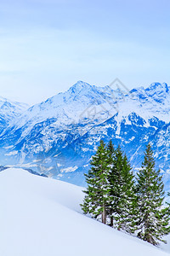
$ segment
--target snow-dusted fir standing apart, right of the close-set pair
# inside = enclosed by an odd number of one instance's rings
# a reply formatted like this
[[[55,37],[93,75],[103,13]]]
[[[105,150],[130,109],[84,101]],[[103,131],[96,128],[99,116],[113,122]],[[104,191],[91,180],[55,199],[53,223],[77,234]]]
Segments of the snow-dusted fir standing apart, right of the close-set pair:
[[[144,162],[137,177],[137,229],[144,241],[157,245],[170,232],[167,207],[163,207],[164,185],[160,171],[156,172],[150,143],[144,152]],[[166,241],[164,241],[166,242]]]

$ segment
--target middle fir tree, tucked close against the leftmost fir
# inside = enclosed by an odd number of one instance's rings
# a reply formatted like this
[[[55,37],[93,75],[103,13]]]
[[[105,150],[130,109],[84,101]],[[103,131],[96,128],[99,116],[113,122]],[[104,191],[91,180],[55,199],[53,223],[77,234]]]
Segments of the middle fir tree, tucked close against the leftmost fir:
[[[111,226],[114,225],[118,230],[133,232],[133,201],[135,198],[133,172],[120,146],[114,151],[108,181]]]

